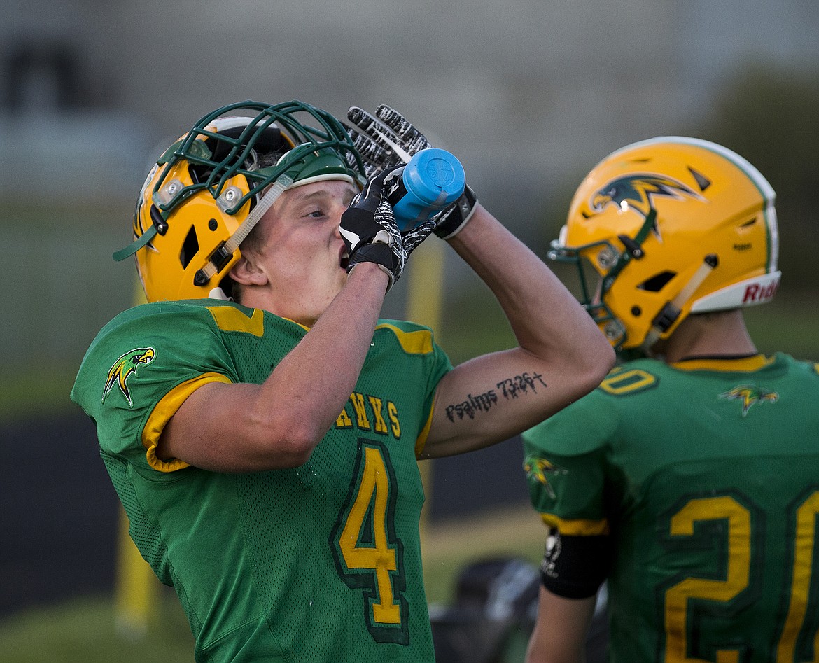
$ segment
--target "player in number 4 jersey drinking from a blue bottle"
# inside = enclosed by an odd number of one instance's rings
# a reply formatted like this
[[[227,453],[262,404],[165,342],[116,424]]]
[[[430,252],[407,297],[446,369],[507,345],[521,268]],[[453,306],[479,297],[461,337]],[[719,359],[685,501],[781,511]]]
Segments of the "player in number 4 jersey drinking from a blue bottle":
[[[302,102],[240,102],[171,145],[115,255],[135,257],[148,303],[102,329],[76,379],[197,661],[432,661],[419,458],[510,438],[613,364],[471,192],[399,231],[384,179],[419,134],[368,117],[348,132]],[[454,368],[431,329],[379,319],[433,230],[518,347]]]

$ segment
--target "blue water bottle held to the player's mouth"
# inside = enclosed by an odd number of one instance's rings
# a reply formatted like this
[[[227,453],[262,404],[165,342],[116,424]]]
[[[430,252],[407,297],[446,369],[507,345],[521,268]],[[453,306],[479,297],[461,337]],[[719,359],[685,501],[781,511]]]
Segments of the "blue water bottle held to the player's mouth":
[[[387,200],[401,232],[413,229],[455,202],[464,193],[464,166],[438,148],[416,152],[400,177],[387,184]]]

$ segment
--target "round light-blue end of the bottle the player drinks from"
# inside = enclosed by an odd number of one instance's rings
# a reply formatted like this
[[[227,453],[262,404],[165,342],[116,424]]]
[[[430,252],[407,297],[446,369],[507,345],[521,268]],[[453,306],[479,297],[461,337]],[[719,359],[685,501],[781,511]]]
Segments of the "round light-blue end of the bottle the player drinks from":
[[[466,174],[455,155],[438,148],[416,152],[404,170],[407,191],[430,207],[445,207],[464,193]]]

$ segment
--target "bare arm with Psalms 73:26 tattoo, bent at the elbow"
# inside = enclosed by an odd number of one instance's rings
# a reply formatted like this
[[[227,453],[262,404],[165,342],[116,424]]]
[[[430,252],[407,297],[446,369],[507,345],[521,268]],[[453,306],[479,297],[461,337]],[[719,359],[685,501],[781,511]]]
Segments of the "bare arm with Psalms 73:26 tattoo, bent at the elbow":
[[[467,361],[441,379],[423,457],[522,432],[595,388],[614,361],[572,294],[483,207],[450,245],[491,288],[519,345]]]

